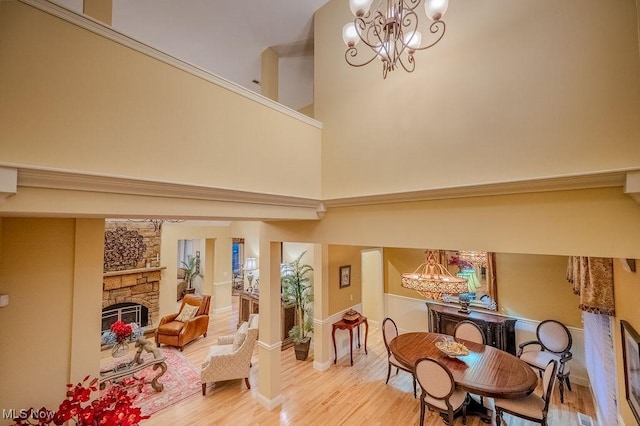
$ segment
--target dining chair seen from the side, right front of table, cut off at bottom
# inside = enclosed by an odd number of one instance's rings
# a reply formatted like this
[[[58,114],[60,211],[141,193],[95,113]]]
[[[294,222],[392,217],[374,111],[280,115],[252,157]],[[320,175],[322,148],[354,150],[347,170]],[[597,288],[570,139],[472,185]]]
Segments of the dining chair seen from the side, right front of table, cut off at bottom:
[[[549,402],[551,393],[553,392],[553,384],[556,379],[558,369],[558,361],[551,360],[544,369],[542,376],[542,396],[531,394],[519,399],[500,399],[494,400],[496,411],[496,423],[502,425],[502,414],[508,413],[512,416],[540,423],[542,426],[547,425],[547,414],[549,412]]]

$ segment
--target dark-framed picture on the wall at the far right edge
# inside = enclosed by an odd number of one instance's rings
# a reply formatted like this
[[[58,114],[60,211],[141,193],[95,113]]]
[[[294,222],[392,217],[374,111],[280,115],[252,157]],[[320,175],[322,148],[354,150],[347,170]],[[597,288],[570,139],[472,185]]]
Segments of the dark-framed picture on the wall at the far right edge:
[[[624,388],[627,402],[640,424],[640,335],[631,324],[621,320]]]

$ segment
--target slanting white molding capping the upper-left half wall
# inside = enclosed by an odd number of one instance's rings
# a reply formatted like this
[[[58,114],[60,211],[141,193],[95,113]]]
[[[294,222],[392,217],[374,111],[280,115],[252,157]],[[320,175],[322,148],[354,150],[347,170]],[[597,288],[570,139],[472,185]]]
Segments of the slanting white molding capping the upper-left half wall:
[[[84,28],[85,30],[91,31],[92,33],[98,34],[106,39],[109,39],[123,46],[131,48],[151,58],[157,59],[175,68],[178,68],[182,71],[188,72],[210,83],[223,87],[247,99],[258,102],[259,104],[262,104],[271,109],[274,109],[283,114],[286,114],[292,118],[300,120],[310,126],[316,127],[318,129],[322,129],[322,123],[319,122],[318,120],[314,120],[309,116],[299,113],[298,111],[295,111],[287,106],[279,104],[278,102],[275,102],[256,92],[253,92],[243,86],[240,86],[239,84],[236,84],[218,75],[212,74],[211,72],[204,70],[196,65],[190,64],[186,61],[183,61],[182,59],[176,58],[175,56],[171,56],[164,52],[161,52],[160,50],[154,49],[153,47],[148,46],[127,35],[124,35],[114,30],[113,28],[106,26],[104,23],[97,21],[89,16],[77,14],[69,9],[65,9],[64,7],[52,1],[47,1],[47,0],[19,0],[19,1],[22,3],[28,4],[29,6],[32,6],[38,10],[46,12],[50,15],[63,19],[67,22],[70,22],[74,25],[77,25],[81,28]]]

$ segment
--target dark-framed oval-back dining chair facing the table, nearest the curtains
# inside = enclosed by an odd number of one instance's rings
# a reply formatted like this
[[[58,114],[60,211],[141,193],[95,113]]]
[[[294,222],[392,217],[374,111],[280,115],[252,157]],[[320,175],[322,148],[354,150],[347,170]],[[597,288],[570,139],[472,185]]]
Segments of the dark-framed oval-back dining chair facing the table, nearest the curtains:
[[[571,332],[566,325],[556,320],[545,320],[538,324],[536,328],[537,340],[530,340],[519,345],[518,358],[537,369],[542,375],[542,371],[547,367],[549,361],[558,361],[558,388],[560,389],[560,402],[564,402],[564,384],[571,390],[569,381],[569,360],[573,339]]]

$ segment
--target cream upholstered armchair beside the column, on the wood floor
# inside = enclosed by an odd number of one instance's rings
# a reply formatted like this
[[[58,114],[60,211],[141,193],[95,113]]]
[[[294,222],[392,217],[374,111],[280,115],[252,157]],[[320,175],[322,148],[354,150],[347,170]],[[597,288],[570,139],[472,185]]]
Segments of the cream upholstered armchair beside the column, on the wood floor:
[[[258,314],[251,314],[231,336],[220,336],[202,363],[200,381],[202,395],[207,392],[207,383],[223,380],[244,379],[248,389],[251,356],[258,339]]]

